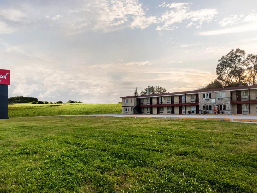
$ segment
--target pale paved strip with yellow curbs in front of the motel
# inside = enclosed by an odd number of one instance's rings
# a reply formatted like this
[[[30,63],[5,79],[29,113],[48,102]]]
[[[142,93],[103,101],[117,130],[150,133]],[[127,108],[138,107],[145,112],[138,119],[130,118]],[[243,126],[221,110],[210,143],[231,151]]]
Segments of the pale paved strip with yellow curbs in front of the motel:
[[[143,115],[143,114],[100,114],[100,115],[67,115],[67,116],[82,116],[82,117],[123,117],[123,118],[165,118],[165,119],[199,119],[199,120],[220,120],[220,121],[242,121],[242,122],[251,122],[257,123],[257,115],[194,115],[194,114],[185,114],[185,115]]]

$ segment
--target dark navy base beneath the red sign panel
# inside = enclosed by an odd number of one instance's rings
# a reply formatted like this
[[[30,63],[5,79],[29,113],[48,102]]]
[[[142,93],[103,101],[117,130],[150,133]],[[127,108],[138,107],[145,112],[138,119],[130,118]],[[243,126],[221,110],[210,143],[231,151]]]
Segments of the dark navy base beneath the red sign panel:
[[[8,117],[8,85],[0,84],[0,119]]]

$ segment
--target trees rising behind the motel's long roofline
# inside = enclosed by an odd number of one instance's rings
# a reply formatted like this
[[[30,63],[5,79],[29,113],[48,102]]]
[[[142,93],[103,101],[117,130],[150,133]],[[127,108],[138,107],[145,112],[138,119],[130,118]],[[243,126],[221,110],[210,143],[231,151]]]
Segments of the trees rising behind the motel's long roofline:
[[[225,87],[236,87],[240,85],[257,84],[257,55],[248,54],[240,48],[232,49],[226,55],[223,55],[216,67],[217,78],[211,81],[206,87],[201,89],[214,89]],[[162,94],[168,91],[160,86],[148,86],[144,88],[140,95]],[[134,95],[138,96],[137,87]]]

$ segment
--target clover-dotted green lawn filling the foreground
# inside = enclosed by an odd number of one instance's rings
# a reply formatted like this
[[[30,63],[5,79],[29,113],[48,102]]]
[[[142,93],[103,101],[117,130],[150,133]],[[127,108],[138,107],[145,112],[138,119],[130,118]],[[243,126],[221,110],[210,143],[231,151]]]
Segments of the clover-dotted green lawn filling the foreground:
[[[0,120],[0,192],[257,192],[256,124]]]

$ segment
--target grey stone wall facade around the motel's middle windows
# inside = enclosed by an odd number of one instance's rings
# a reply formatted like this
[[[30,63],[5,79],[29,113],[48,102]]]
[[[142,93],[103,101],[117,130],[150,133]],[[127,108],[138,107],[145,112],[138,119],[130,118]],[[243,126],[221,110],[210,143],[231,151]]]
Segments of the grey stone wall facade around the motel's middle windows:
[[[212,104],[212,99],[215,99],[215,104]],[[224,114],[231,114],[231,105],[230,105],[230,98],[223,98],[223,100],[218,100],[217,98],[212,98],[209,99],[208,101],[204,100],[204,99],[199,99],[199,113],[203,113],[203,106],[204,105],[211,105],[212,106],[212,110],[205,110],[206,112],[208,112],[209,114],[214,114],[214,106],[217,105],[226,105],[226,110],[224,111]],[[221,114],[220,110],[220,114]]]

